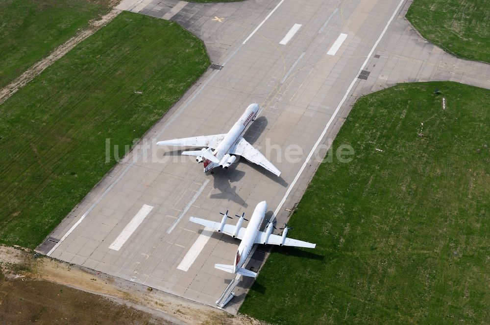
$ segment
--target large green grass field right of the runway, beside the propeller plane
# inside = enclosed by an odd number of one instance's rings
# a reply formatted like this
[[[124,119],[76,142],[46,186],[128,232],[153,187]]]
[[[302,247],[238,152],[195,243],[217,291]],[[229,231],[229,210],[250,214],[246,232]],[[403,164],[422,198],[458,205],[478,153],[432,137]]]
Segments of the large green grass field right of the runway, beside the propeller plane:
[[[273,249],[240,312],[274,324],[489,324],[489,101],[452,82],[360,98],[333,144],[352,145],[353,161],[322,163],[290,221],[288,235],[317,248]]]

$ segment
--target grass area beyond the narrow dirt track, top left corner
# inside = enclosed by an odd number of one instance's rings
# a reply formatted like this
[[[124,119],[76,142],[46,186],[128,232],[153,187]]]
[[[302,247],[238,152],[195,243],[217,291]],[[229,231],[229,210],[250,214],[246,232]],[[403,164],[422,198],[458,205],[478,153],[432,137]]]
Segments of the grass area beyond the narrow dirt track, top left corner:
[[[0,1],[0,88],[107,11],[104,0]]]

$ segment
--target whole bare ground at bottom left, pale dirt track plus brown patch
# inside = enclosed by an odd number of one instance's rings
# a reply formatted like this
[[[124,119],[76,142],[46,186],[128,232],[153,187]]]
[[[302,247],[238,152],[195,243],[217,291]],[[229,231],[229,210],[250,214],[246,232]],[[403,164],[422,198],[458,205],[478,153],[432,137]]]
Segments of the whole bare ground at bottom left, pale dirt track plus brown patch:
[[[264,324],[20,248],[0,270],[0,324]]]

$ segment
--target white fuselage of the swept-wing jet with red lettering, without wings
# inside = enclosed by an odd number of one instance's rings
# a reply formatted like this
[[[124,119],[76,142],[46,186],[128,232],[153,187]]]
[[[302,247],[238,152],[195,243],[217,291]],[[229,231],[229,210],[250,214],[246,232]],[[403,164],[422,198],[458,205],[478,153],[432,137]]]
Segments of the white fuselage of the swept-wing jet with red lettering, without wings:
[[[213,155],[218,158],[220,163],[213,163],[210,160],[204,160],[204,172],[208,172],[211,169],[218,167],[227,160],[225,157],[232,146],[237,142],[238,138],[244,133],[245,128],[254,120],[254,118],[259,113],[259,105],[250,104],[245,110],[245,113],[240,117],[240,119],[232,126],[230,131],[224,136],[224,139],[213,151]]]

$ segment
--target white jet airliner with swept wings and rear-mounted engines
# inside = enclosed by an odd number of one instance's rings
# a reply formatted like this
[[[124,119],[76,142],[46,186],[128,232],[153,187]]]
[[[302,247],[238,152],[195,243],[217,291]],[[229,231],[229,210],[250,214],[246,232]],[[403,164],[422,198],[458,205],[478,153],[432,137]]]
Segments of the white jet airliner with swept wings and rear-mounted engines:
[[[204,164],[204,172],[218,166],[228,169],[232,163],[235,163],[238,156],[242,156],[279,176],[281,172],[242,137],[245,128],[255,120],[258,112],[259,105],[249,105],[245,113],[226,134],[158,141],[156,144],[203,147],[201,150],[184,151],[182,155],[196,156],[196,162]]]

